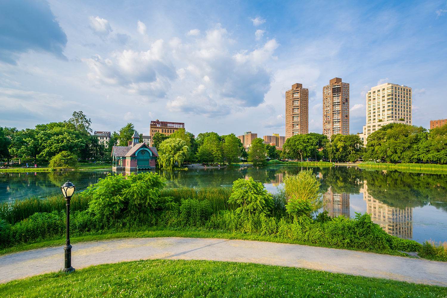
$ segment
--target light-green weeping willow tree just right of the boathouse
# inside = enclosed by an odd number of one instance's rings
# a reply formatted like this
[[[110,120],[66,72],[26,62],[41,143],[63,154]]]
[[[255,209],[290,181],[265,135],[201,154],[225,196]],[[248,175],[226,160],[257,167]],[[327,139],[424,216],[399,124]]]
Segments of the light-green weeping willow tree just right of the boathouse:
[[[180,167],[190,155],[190,148],[182,139],[167,139],[160,144],[160,164],[163,168],[172,170],[177,162]]]

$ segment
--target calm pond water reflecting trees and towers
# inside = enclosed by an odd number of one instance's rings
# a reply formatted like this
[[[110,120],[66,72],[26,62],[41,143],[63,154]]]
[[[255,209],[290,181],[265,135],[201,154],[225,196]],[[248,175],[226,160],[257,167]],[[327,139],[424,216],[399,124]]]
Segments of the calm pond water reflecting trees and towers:
[[[297,166],[268,168],[200,169],[157,171],[168,187],[231,187],[238,178],[253,177],[274,193],[285,173],[296,174]],[[325,209],[330,216],[355,216],[368,212],[389,234],[423,242],[447,241],[447,175],[358,168],[312,168],[322,179]],[[83,190],[111,171],[54,173],[0,173],[0,202],[30,196],[60,193],[60,185],[70,180]]]

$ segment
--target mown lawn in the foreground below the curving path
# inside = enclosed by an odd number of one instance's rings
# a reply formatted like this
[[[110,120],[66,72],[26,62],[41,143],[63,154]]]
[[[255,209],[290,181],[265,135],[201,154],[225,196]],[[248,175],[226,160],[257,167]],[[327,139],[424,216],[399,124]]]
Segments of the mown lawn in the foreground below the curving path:
[[[1,297],[442,298],[447,289],[402,281],[251,263],[139,260],[0,285]]]

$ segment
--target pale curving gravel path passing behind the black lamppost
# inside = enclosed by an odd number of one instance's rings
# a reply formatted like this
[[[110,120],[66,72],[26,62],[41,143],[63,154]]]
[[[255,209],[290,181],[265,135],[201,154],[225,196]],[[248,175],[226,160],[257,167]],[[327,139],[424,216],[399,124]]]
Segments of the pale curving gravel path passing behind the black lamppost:
[[[249,262],[447,286],[447,263],[444,262],[298,244],[200,238],[135,238],[75,243],[72,248],[72,265],[76,269],[147,259]],[[63,246],[17,252],[0,256],[0,282],[62,268]]]

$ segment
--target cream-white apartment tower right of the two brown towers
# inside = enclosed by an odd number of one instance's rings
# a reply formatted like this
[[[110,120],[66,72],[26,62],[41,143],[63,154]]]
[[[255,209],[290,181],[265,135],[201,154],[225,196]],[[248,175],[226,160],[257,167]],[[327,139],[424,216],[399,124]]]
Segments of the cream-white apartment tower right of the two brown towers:
[[[366,145],[367,137],[389,123],[411,125],[411,88],[391,83],[372,87],[366,95],[366,125],[360,139]]]

